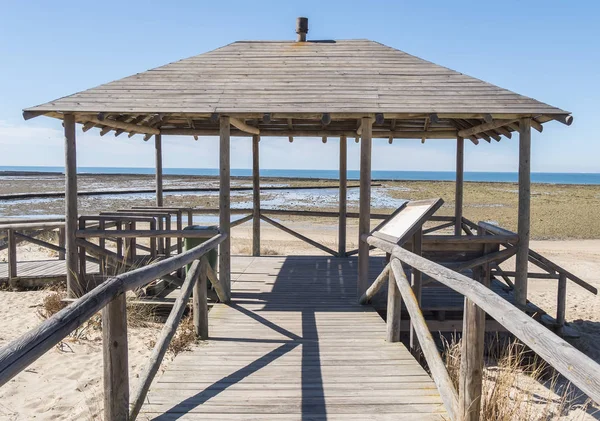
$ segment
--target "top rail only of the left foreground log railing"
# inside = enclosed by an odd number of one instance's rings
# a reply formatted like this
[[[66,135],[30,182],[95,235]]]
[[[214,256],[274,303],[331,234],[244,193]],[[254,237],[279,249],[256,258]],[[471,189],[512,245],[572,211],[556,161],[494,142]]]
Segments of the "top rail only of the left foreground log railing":
[[[0,349],[0,386],[58,344],[118,295],[142,287],[192,263],[223,242],[226,237],[226,234],[218,234],[181,254],[109,278],[34,329],[5,345]]]

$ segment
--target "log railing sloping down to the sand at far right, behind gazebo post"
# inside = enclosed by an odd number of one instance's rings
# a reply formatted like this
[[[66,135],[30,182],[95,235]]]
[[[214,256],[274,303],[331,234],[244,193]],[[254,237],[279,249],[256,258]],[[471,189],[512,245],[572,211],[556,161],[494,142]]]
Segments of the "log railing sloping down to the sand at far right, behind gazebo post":
[[[463,218],[464,219],[464,218]],[[498,236],[507,236],[507,235],[516,235],[515,233],[506,230],[504,228],[500,228],[496,225],[489,224],[487,222],[479,222],[479,224],[475,225],[473,222],[464,219],[464,223],[473,228],[478,229],[486,234],[498,235]],[[506,247],[514,246],[514,242],[507,241],[503,243]],[[529,250],[529,262],[535,265],[537,268],[541,269],[543,272],[529,272],[527,274],[528,278],[531,279],[556,279],[557,283],[557,293],[556,293],[556,329],[561,331],[565,326],[565,309],[566,309],[566,299],[567,299],[567,280],[579,285],[585,290],[591,292],[592,294],[598,295],[598,289],[593,285],[585,282],[583,279],[559,266],[558,264],[550,261],[546,257],[537,253],[534,250]],[[513,287],[513,283],[511,278],[516,276],[515,271],[507,271],[500,268],[497,264],[494,264],[491,268],[492,276],[499,276],[507,283],[509,287]]]

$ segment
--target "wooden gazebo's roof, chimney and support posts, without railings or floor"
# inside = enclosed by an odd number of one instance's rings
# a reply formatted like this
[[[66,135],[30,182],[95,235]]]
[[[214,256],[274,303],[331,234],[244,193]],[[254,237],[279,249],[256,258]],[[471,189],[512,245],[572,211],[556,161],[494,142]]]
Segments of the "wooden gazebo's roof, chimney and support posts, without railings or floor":
[[[519,136],[519,251],[515,296],[527,297],[531,128],[567,111],[499,88],[369,40],[307,41],[298,19],[296,41],[241,41],[195,57],[27,108],[64,122],[66,260],[68,284],[78,273],[76,123],[101,135],[136,134],[156,143],[157,206],[162,206],[161,137],[220,137],[220,228],[230,232],[230,138],[252,137],[258,198],[260,137],[340,139],[345,197],[346,142],[361,142],[359,236],[370,223],[371,145],[374,139],[451,139],[457,144],[456,234],[462,215],[464,139]],[[398,157],[402,169],[404,157]],[[258,199],[257,199],[258,200]],[[340,225],[345,225],[345,199]],[[256,203],[255,203],[256,208]],[[259,218],[254,219],[255,227]],[[368,286],[369,245],[360,241],[358,292]],[[230,237],[221,244],[221,281],[230,283]]]

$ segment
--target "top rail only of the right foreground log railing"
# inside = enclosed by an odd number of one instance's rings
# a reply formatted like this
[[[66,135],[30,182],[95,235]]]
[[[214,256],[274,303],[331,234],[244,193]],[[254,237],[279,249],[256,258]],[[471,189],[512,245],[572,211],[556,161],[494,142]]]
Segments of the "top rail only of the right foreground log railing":
[[[595,402],[600,402],[600,365],[504,298],[473,279],[393,243],[373,236],[362,239],[465,296]]]

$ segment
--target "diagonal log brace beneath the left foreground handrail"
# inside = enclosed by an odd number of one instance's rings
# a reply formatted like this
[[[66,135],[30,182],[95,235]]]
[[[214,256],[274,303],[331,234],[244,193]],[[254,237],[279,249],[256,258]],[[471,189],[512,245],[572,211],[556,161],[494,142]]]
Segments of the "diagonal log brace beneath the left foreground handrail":
[[[171,340],[175,336],[175,332],[177,331],[177,326],[179,326],[179,322],[181,321],[181,317],[183,317],[183,313],[186,309],[187,303],[192,295],[192,291],[194,293],[198,293],[198,288],[196,285],[200,284],[198,282],[199,277],[204,277],[204,300],[206,305],[206,277],[201,274],[202,267],[198,260],[192,263],[192,266],[185,278],[183,285],[181,286],[181,292],[177,299],[175,300],[175,304],[173,304],[173,308],[169,313],[169,317],[165,322],[158,339],[156,340],[156,344],[152,349],[152,353],[148,358],[148,362],[146,363],[144,369],[142,370],[142,375],[140,376],[139,386],[135,389],[135,392],[132,394],[132,402],[131,402],[131,411],[129,412],[129,420],[134,421],[144,404],[144,399],[148,394],[148,390],[150,389],[150,385],[152,384],[152,380],[156,376],[158,369],[160,368],[160,364],[162,363],[165,354],[167,353],[167,349],[169,348],[169,344]],[[201,292],[200,292],[201,293]],[[195,297],[194,297],[195,298]],[[196,314],[196,310],[198,307],[194,300],[194,325],[196,325],[196,318],[198,317]],[[208,328],[208,325],[206,326]]]

